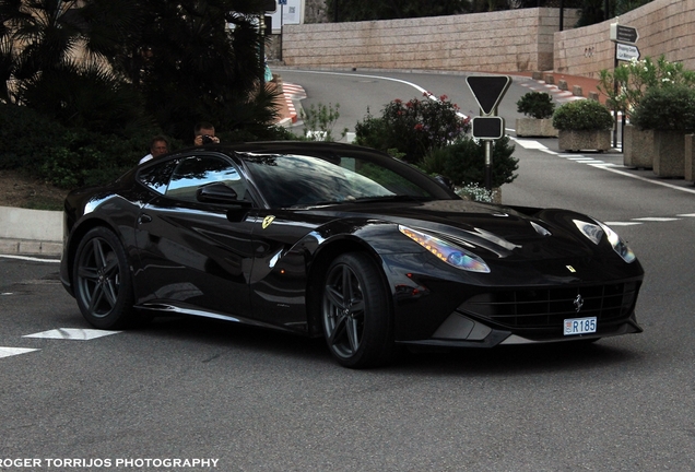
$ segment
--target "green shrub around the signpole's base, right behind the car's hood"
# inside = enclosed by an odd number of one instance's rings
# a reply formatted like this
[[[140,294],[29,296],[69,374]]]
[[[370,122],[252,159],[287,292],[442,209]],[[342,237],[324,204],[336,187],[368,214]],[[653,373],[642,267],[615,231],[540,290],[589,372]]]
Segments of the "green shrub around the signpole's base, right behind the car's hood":
[[[514,157],[515,146],[509,137],[493,142],[492,187],[502,187],[517,178],[519,160]],[[441,174],[456,187],[485,185],[485,146],[472,138],[462,138],[451,145],[433,150],[423,161],[428,174]]]

